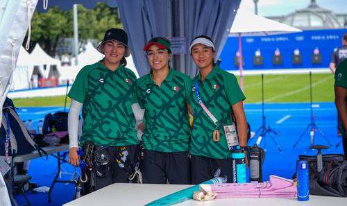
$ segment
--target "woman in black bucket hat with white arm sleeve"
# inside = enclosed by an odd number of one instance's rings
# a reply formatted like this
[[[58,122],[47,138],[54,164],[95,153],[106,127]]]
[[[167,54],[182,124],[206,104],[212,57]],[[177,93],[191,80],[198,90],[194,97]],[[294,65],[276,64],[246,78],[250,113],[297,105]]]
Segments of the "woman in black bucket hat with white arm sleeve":
[[[130,55],[128,35],[119,28],[110,28],[97,49],[105,57],[94,65],[83,67],[68,94],[71,98],[69,162],[74,166],[80,163],[77,136],[78,115],[82,109],[81,146],[85,154],[92,151],[90,158],[93,160],[92,174],[87,177],[89,191],[115,182],[128,182],[129,165],[135,165],[139,153],[131,108],[137,103],[136,77],[125,67],[125,57]],[[82,178],[85,180],[84,174]]]

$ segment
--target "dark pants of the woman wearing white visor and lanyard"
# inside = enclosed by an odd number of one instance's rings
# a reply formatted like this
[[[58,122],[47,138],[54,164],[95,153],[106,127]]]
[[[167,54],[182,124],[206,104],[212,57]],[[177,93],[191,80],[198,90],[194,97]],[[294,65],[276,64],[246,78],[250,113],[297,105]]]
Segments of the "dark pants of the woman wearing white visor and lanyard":
[[[213,159],[210,157],[191,155],[192,165],[192,184],[200,184],[207,180],[218,177],[228,178],[227,182],[232,181],[231,159]],[[220,170],[220,173],[219,173]]]

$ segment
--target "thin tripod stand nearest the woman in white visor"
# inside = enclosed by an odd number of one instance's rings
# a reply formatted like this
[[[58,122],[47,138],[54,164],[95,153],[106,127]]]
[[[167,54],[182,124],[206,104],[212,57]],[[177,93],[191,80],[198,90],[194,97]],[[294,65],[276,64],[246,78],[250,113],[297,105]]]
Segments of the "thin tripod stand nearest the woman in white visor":
[[[278,135],[278,132],[276,130],[273,130],[270,126],[266,126],[266,117],[265,117],[265,112],[264,112],[264,74],[262,74],[262,126],[255,132],[255,135],[259,135],[257,138],[257,145],[260,144],[262,139],[266,138],[266,135],[271,137],[271,140],[273,143],[277,146],[277,149],[280,153],[282,153],[282,149],[280,148],[280,145],[277,143],[275,139],[273,139],[272,135]],[[266,139],[264,143],[264,148],[266,147]]]

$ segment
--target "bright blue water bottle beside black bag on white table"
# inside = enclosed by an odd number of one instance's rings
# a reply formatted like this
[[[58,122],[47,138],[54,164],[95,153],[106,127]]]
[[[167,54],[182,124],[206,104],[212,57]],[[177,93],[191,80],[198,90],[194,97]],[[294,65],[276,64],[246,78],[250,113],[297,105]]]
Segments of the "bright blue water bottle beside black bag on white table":
[[[296,178],[298,179],[298,200],[309,200],[310,182],[307,161],[298,160],[296,162]]]

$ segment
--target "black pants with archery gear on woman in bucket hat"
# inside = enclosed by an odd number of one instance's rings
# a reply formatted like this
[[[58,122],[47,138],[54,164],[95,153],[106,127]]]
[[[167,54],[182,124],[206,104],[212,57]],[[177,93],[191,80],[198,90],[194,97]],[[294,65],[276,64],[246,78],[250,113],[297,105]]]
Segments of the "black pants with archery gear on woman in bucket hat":
[[[135,166],[139,159],[139,145],[130,146],[95,146],[96,150],[104,150],[110,155],[110,171],[107,175],[100,177],[97,173],[98,169],[94,163],[92,173],[87,173],[88,181],[83,186],[85,192],[89,194],[113,183],[128,183],[128,168],[124,165],[125,161]],[[85,149],[84,149],[85,151]],[[121,159],[122,158],[122,159]],[[94,177],[94,178],[93,178]]]

